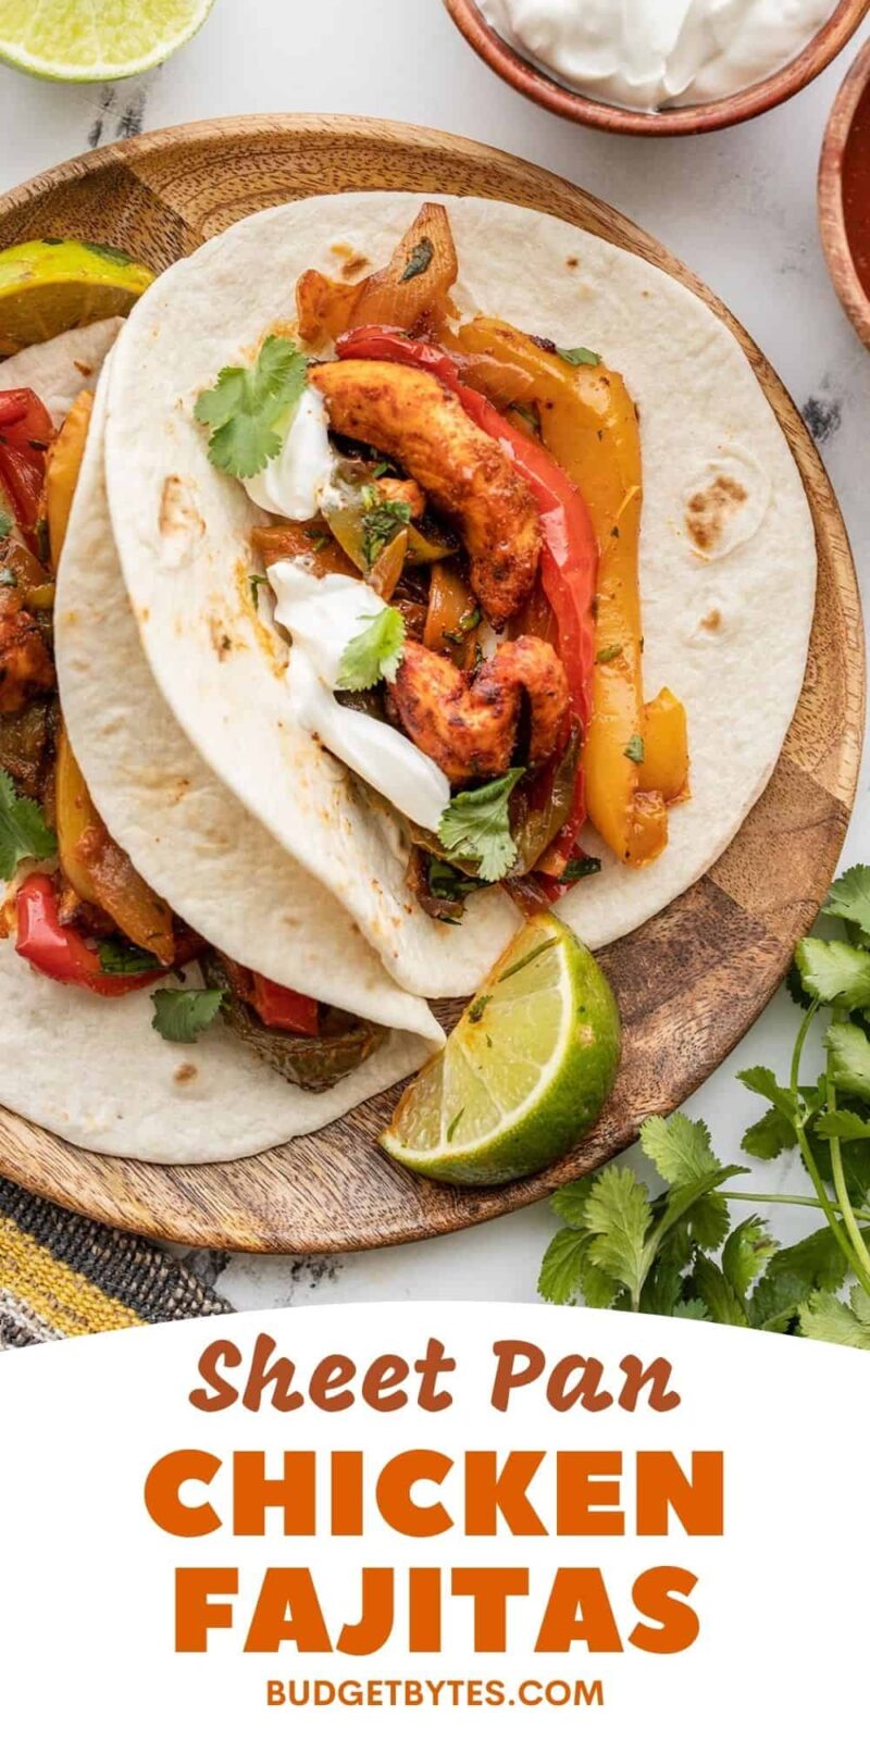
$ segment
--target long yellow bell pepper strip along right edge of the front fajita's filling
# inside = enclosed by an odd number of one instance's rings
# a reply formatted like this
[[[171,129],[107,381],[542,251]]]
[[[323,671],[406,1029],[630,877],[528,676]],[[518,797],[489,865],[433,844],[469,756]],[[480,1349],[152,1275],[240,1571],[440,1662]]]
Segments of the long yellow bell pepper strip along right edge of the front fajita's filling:
[[[583,491],[599,545],[592,720],[583,755],[586,807],[616,856],[639,868],[666,846],[666,804],[686,790],[687,748],[686,715],[680,736],[673,729],[679,701],[672,698],[670,729],[652,713],[656,755],[644,774],[649,715],[642,691],[642,461],[635,407],[612,369],[578,367],[498,320],[468,322],[456,348],[513,364],[532,378],[532,392],[519,404],[534,411],[545,447]],[[661,783],[652,783],[651,771]]]

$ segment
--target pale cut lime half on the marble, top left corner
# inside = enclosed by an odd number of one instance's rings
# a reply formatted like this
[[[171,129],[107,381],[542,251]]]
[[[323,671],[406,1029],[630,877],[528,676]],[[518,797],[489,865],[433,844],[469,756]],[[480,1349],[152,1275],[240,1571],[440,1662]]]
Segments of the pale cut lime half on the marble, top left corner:
[[[0,57],[37,78],[130,78],[169,59],[214,0],[0,0]]]

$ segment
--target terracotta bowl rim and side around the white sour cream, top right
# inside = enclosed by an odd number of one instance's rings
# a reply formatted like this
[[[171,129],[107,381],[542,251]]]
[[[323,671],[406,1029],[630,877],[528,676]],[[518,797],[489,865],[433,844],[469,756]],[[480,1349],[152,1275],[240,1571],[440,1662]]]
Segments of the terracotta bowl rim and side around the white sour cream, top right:
[[[566,120],[581,122],[586,127],[600,127],[604,132],[633,132],[673,137],[687,132],[715,132],[719,127],[734,127],[740,120],[752,120],[776,108],[786,97],[809,85],[813,78],[828,66],[835,54],[846,47],[858,30],[858,24],[870,10],[870,0],[840,0],[837,10],[826,24],[813,37],[813,42],[780,71],[759,80],[736,96],[722,97],[717,103],[694,103],[679,110],[623,110],[614,103],[599,103],[597,97],[585,97],[539,71],[524,61],[515,49],[491,30],[482,17],[477,0],[444,0],[454,24],[461,30],[472,49],[492,68],[499,78],[513,85],[524,97],[539,103],[541,108],[564,115]]]

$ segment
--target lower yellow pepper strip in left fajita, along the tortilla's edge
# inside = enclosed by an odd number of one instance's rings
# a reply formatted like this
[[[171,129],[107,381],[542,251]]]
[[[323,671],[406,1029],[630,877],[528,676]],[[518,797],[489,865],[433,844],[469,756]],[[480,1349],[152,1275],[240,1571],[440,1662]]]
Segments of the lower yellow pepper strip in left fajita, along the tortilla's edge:
[[[106,912],[137,948],[172,966],[172,912],[106,832],[63,726],[54,802],[61,870],[78,898]]]

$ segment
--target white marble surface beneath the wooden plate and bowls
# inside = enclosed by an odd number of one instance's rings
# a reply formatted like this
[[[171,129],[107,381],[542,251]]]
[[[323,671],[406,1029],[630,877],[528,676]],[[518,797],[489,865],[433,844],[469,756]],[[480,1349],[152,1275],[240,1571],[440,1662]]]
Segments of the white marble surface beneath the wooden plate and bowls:
[[[385,115],[470,134],[545,164],[658,235],[757,338],[821,444],[858,569],[870,585],[870,357],[830,289],[814,204],[823,125],[868,33],[865,26],[833,68],[773,115],[705,139],[633,141],[571,127],[515,96],[470,52],[440,0],[218,0],[197,40],[141,82],[75,89],[0,68],[0,183],[12,186],[89,143],[143,127],[254,110]],[[861,858],[870,858],[867,773],[844,861]],[[792,1034],[792,1006],[780,994],[689,1103],[693,1115],[710,1122],[724,1159],[736,1157],[750,1121],[736,1070],[750,1061],[783,1065]],[[766,1168],[759,1188],[786,1190],[788,1176],[786,1164]],[[800,1209],[774,1218],[790,1237],[809,1232],[809,1221]],[[198,1253],[195,1263],[240,1308],[311,1300],[532,1300],[552,1227],[541,1204],[395,1251],[308,1262],[235,1256],[223,1268],[223,1260]]]

